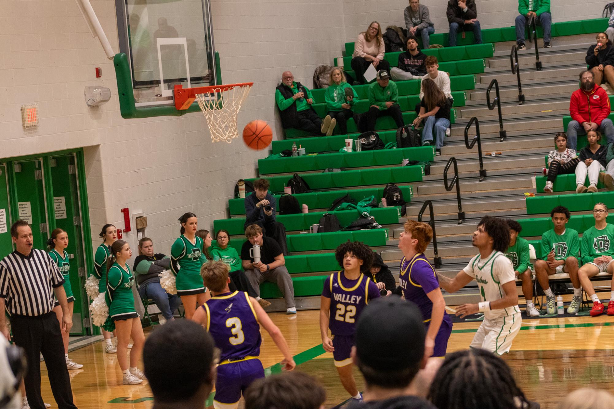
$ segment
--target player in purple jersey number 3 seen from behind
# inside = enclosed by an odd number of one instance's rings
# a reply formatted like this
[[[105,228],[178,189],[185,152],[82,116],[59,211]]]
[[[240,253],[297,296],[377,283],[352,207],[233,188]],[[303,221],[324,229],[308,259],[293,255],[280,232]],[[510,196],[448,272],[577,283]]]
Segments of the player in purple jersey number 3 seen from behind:
[[[241,392],[252,381],[264,378],[262,362],[258,359],[262,343],[260,324],[284,355],[281,361],[284,368],[293,370],[296,366],[284,335],[260,304],[247,292],[230,292],[228,270],[222,261],[203,264],[201,275],[212,297],[192,317],[206,327],[221,351],[213,400],[215,409],[236,409]]]

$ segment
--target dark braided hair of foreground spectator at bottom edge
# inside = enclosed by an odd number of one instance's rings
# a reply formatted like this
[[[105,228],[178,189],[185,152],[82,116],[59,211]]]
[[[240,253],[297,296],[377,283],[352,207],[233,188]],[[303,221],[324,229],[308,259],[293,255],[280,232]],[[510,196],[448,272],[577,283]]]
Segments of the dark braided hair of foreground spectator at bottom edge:
[[[430,384],[428,399],[439,409],[529,406],[505,361],[481,349],[448,354]]]

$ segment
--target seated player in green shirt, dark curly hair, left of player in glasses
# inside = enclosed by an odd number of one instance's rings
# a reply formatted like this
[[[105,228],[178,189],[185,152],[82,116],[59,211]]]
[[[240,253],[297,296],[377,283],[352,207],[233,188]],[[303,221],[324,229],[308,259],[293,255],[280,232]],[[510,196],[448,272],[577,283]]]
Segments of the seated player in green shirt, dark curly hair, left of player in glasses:
[[[578,232],[565,226],[570,218],[569,210],[557,206],[550,212],[554,229],[542,234],[542,259],[535,261],[537,281],[546,294],[548,314],[556,313],[554,293],[548,284],[548,277],[555,273],[568,273],[573,285],[573,299],[568,314],[577,314],[582,302],[580,279],[578,278]]]

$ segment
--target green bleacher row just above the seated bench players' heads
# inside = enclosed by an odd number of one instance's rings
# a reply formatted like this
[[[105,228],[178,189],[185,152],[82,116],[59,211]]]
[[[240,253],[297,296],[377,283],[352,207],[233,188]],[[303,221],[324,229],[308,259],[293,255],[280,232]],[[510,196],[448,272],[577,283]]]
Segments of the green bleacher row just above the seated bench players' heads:
[[[605,203],[608,208],[614,208],[614,192],[550,194],[526,199],[529,215],[550,213],[557,206],[565,206],[570,212],[593,210],[593,207],[599,202]],[[576,216],[572,216],[574,217]]]

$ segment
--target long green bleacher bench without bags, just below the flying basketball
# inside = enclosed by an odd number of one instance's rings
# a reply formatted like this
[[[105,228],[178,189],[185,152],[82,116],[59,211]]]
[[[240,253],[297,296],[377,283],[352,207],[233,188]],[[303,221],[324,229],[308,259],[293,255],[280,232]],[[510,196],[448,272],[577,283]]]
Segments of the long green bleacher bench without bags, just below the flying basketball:
[[[301,145],[303,145],[301,143]],[[401,164],[403,159],[410,161],[432,161],[433,148],[397,148],[370,151],[325,153],[324,155],[289,156],[286,158],[258,159],[260,175],[282,174],[288,172],[308,172],[329,167],[371,167]]]

